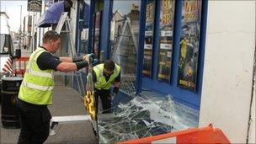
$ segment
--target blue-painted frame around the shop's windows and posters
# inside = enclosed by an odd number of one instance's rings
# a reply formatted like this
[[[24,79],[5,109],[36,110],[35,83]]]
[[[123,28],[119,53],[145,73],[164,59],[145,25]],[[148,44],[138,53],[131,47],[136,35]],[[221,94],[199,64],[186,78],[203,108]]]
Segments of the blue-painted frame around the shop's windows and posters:
[[[93,1],[91,1],[93,6]],[[180,40],[180,29],[181,29],[181,14],[182,14],[182,1],[176,1],[175,6],[175,21],[174,21],[174,31],[173,31],[173,61],[172,61],[172,73],[171,73],[171,82],[163,83],[157,81],[157,48],[158,45],[157,39],[159,34],[155,33],[154,41],[156,43],[153,45],[153,74],[152,78],[142,77],[142,67],[143,67],[143,56],[144,56],[144,33],[145,33],[145,15],[146,15],[146,1],[141,1],[141,25],[140,25],[140,34],[139,34],[139,51],[137,51],[137,72],[136,72],[136,93],[141,93],[141,90],[147,89],[152,92],[162,93],[162,95],[173,95],[173,98],[181,104],[188,105],[193,109],[200,109],[200,97],[202,91],[202,80],[203,80],[203,68],[204,68],[204,59],[205,59],[205,33],[206,33],[206,19],[207,19],[207,7],[208,0],[202,1],[202,13],[201,13],[201,24],[200,24],[200,52],[199,52],[199,65],[198,65],[198,77],[197,77],[197,89],[195,92],[180,88],[177,86],[178,83],[178,61],[179,61],[179,40]],[[104,55],[106,58],[109,58],[109,31],[110,31],[110,19],[112,13],[113,0],[104,1],[104,11],[103,11],[103,22],[101,24],[101,51],[105,51]],[[93,8],[91,8],[91,15],[93,14]],[[155,20],[155,29],[159,28],[158,19],[159,19],[159,1],[157,1],[157,13]],[[90,20],[90,25],[92,21]],[[90,30],[92,28],[90,27]],[[89,33],[90,36],[91,33]],[[89,37],[90,39],[92,38]],[[91,47],[89,46],[89,50]]]

